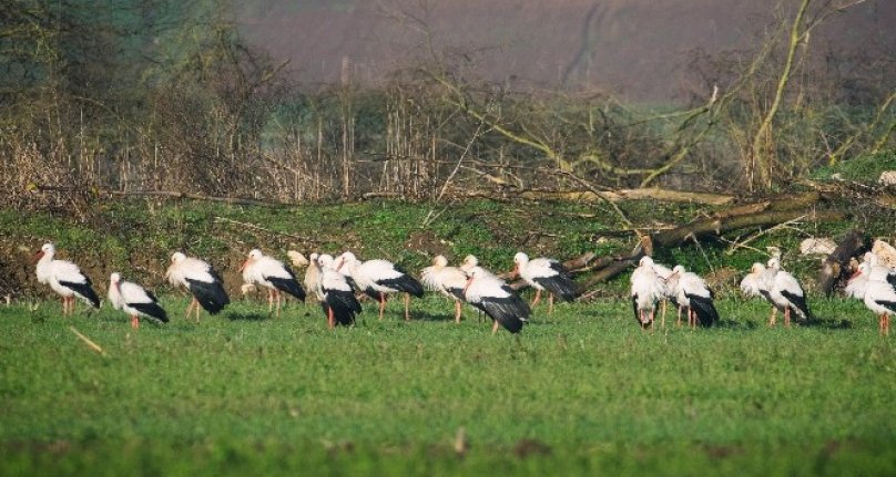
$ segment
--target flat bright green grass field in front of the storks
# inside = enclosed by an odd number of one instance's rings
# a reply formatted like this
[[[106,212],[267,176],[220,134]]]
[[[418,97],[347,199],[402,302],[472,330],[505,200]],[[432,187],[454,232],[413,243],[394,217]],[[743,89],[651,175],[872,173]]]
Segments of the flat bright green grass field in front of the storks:
[[[896,475],[896,336],[854,301],[768,329],[726,299],[720,328],[653,333],[623,300],[563,304],[519,339],[438,297],[335,331],[317,305],[163,302],[138,331],[0,308],[0,475]]]

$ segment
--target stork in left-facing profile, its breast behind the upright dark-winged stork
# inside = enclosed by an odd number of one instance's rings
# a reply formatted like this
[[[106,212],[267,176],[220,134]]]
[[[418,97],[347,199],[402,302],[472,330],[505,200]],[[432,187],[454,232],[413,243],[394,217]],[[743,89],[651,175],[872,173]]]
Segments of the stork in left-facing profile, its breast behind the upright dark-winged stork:
[[[336,270],[345,270],[352,277],[358,290],[379,301],[379,319],[386,310],[386,295],[405,293],[405,320],[410,320],[410,295],[421,298],[424,286],[395,263],[388,260],[367,260],[362,262],[350,251],[343,252],[336,259]]]

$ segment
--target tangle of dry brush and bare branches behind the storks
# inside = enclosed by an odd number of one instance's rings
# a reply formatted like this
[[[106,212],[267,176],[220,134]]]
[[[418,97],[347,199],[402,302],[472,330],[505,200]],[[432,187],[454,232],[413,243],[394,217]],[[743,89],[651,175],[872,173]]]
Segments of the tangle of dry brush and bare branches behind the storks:
[[[862,1],[783,6],[755,48],[695,52],[692,104],[663,111],[481,81],[470,73],[475,52],[437,50],[401,8],[389,14],[429,46],[417,68],[377,89],[350,74],[310,89],[291,83],[289,64],[247,48],[218,4],[4,3],[7,207],[78,211],[112,191],[281,203],[648,186],[767,193],[894,148],[893,58],[819,58],[812,42]]]

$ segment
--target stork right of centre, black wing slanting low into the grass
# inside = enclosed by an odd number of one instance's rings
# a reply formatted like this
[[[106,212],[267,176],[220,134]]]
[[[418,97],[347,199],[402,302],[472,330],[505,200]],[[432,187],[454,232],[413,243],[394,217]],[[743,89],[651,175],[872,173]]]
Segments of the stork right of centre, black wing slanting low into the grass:
[[[519,333],[532,313],[529,304],[503,280],[481,267],[472,267],[468,274],[464,298],[495,320],[491,334],[498,332],[498,324],[511,333]]]

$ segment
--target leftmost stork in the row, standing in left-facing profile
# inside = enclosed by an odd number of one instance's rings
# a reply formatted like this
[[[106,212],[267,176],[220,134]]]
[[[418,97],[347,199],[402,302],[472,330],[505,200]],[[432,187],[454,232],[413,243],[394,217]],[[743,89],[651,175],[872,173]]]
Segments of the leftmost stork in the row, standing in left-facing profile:
[[[93,291],[90,279],[81,273],[77,265],[67,260],[55,260],[54,256],[55,247],[52,243],[44,243],[34,253],[38,262],[35,272],[39,282],[49,284],[62,297],[62,315],[74,313],[75,297],[93,308],[100,308],[100,298]]]

